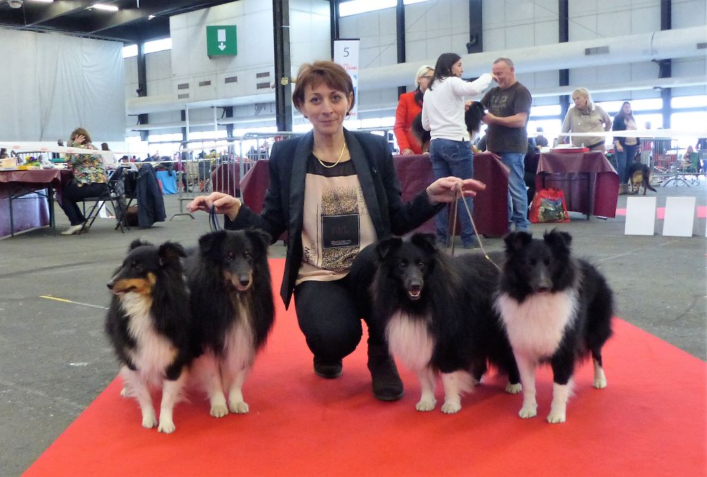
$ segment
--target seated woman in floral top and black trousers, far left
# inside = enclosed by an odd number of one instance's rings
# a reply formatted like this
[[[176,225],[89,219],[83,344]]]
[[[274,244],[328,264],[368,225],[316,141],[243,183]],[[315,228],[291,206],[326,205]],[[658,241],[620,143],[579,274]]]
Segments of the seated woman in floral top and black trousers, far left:
[[[95,150],[88,131],[82,127],[74,129],[71,133],[69,147]],[[108,176],[103,167],[103,156],[100,154],[67,154],[66,164],[71,166],[74,178],[62,188],[62,201],[59,205],[71,222],[71,226],[64,230],[62,235],[74,235],[86,222],[78,202],[87,197],[103,195],[108,187]]]

